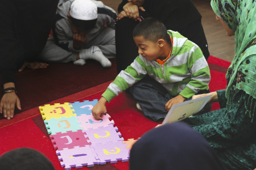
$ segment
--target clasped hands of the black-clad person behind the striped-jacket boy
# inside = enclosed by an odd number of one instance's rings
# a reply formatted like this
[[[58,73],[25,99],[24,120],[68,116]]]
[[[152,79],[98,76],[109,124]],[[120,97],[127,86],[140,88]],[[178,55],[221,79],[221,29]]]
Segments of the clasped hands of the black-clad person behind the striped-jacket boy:
[[[133,3],[128,2],[125,6],[123,6],[123,10],[125,10],[127,17],[139,20],[139,10],[146,11],[142,6],[133,5]]]

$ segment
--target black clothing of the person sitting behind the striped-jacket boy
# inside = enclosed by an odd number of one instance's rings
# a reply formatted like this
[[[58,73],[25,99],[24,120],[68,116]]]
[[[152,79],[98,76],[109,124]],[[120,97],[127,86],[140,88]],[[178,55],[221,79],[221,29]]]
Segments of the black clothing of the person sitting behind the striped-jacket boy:
[[[118,6],[118,11],[128,1],[123,0]],[[201,24],[199,11],[190,0],[145,0],[143,5],[145,12],[139,10],[141,18],[154,17],[163,22],[167,29],[177,31],[192,42],[195,42],[202,50],[205,59],[209,57],[207,39]],[[133,40],[133,29],[139,23],[130,18],[122,18],[115,24],[115,45],[117,51],[117,73],[125,70],[127,66],[138,56],[138,48]]]

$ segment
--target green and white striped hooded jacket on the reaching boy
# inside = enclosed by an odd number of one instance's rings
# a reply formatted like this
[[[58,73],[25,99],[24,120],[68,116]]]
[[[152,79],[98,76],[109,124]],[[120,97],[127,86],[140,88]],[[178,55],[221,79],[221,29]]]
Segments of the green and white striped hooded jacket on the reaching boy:
[[[199,46],[179,32],[168,30],[167,33],[174,40],[170,58],[162,66],[139,55],[102,94],[108,102],[147,74],[161,83],[172,96],[180,94],[189,98],[200,90],[209,89],[210,70]]]

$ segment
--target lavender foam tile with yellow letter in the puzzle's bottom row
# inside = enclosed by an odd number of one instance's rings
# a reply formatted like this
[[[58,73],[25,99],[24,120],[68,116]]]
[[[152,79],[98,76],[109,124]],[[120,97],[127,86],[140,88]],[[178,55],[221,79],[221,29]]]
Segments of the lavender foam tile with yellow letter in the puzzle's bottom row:
[[[125,146],[127,144],[124,144],[122,141],[90,145],[98,155],[96,158],[100,160],[100,164],[106,164],[106,162],[117,163],[118,160],[127,162],[130,158],[130,150],[127,150]]]

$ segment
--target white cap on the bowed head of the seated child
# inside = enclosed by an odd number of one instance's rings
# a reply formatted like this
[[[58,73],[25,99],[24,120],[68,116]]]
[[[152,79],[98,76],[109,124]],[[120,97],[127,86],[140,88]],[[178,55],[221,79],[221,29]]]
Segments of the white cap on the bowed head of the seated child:
[[[97,5],[90,0],[75,0],[71,5],[70,16],[80,20],[97,19]]]

